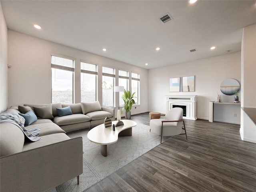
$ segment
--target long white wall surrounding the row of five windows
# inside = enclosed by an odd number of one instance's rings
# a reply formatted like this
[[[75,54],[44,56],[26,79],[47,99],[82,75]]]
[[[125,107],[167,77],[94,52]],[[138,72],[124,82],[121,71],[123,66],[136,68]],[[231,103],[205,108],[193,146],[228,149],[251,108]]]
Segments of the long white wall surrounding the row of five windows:
[[[80,102],[80,60],[98,64],[98,100],[102,104],[102,65],[113,66],[140,74],[140,106],[132,108],[132,114],[148,111],[148,70],[130,64],[56,44],[33,36],[8,30],[9,107],[24,103],[51,103],[50,54],[75,58],[75,103]],[[118,96],[118,93],[116,94]],[[117,106],[117,101],[116,101]]]

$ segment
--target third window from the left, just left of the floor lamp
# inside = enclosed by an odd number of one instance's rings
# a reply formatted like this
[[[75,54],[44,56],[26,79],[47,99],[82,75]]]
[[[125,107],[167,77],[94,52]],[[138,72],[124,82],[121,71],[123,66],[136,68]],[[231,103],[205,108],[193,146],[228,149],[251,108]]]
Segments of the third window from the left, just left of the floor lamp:
[[[114,106],[114,91],[116,69],[102,67],[102,106]]]

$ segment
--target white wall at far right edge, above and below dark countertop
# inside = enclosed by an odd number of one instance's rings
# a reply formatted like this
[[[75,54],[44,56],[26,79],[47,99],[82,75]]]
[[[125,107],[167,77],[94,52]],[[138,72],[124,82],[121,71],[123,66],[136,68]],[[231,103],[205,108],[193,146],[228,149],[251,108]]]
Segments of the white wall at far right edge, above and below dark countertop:
[[[241,107],[256,108],[256,24],[245,27],[242,36]],[[241,108],[242,140],[256,143],[256,122]]]

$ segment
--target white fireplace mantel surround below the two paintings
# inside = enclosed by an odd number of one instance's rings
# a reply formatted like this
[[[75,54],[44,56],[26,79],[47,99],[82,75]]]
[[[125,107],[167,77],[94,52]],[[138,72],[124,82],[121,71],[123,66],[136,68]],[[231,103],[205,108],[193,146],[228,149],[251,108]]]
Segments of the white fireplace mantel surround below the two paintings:
[[[196,120],[196,95],[166,95],[166,112],[173,108],[173,105],[186,106],[186,117],[184,119]]]

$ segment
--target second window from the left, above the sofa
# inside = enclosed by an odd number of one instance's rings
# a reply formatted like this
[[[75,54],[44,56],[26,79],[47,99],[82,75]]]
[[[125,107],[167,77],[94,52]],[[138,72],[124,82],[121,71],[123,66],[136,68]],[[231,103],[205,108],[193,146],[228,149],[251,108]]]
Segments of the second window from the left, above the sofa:
[[[97,100],[98,65],[81,62],[81,102]]]

